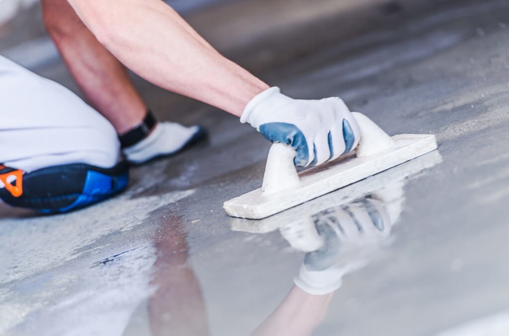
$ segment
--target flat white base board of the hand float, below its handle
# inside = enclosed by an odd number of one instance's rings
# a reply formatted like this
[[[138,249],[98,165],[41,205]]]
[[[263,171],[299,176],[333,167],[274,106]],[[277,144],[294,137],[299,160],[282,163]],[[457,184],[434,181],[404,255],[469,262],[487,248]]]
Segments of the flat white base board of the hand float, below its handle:
[[[434,135],[399,134],[391,138],[395,146],[377,154],[362,158],[351,154],[301,172],[298,189],[262,195],[260,188],[224,202],[223,208],[233,217],[266,218],[437,149]]]

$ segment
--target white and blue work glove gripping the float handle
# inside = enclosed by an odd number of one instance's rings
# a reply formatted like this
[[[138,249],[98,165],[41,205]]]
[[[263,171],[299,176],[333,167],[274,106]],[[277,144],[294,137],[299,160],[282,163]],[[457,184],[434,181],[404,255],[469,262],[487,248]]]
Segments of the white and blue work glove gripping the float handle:
[[[291,145],[296,166],[319,165],[357,146],[360,129],[345,103],[337,97],[292,99],[271,87],[254,97],[240,117],[271,142]]]

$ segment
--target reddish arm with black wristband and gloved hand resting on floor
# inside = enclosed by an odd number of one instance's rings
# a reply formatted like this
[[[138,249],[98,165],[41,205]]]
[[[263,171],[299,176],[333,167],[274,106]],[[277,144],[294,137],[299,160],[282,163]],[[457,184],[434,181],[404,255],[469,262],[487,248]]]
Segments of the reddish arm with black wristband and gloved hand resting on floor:
[[[157,123],[157,120],[151,129],[139,135],[136,129],[146,129],[140,124],[148,108],[126,68],[99,43],[66,0],[42,0],[41,3],[44,24],[74,80],[121,135],[124,154],[131,163],[175,154],[206,137],[202,127]]]

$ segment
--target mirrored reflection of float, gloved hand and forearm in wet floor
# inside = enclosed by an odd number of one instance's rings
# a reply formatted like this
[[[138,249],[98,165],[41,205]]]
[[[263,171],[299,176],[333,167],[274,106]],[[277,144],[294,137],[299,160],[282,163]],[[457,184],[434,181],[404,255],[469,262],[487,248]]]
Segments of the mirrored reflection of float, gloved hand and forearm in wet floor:
[[[264,220],[232,218],[232,230],[278,230],[293,249],[305,252],[294,286],[253,334],[311,334],[324,319],[343,276],[376,260],[391,243],[406,182],[440,162],[439,152],[433,151]]]

